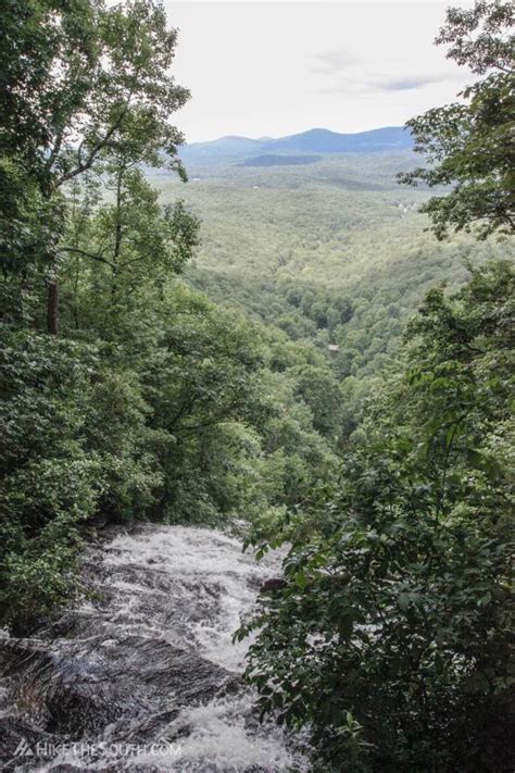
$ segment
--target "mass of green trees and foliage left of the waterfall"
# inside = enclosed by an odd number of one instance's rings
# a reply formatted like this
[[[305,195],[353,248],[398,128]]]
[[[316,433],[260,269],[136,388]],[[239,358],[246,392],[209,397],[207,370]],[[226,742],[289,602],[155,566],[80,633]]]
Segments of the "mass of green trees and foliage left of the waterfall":
[[[334,475],[338,422],[307,374],[339,385],[313,347],[179,278],[199,223],[143,174],[186,178],[163,8],[7,11],[0,623],[23,632],[75,593],[99,518],[269,528]]]

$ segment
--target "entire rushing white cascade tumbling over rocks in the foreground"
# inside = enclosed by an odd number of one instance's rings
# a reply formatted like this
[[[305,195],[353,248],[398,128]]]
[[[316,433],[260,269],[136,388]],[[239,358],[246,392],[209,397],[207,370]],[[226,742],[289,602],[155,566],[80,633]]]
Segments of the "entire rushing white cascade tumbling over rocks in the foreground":
[[[258,563],[221,532],[185,526],[138,525],[91,550],[93,598],[65,616],[65,637],[43,638],[72,719],[64,721],[46,699],[41,728],[47,739],[50,732],[53,739],[87,743],[80,753],[66,747],[37,766],[17,760],[12,770],[305,770],[282,732],[256,721],[254,696],[239,680],[248,641],[231,641],[279,565],[272,554]],[[38,683],[38,668],[24,678]],[[77,681],[80,700],[87,696],[93,706],[89,730],[73,714]],[[127,743],[130,753],[121,747]],[[91,744],[102,748],[91,751]]]

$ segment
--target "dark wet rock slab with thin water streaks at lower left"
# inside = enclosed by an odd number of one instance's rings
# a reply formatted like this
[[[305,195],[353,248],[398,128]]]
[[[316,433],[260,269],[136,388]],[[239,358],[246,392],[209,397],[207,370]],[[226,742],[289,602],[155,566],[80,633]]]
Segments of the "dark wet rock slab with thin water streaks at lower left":
[[[28,641],[28,643],[27,643]],[[16,673],[13,696],[49,733],[81,737],[124,716],[178,711],[241,686],[239,676],[161,639],[61,639],[30,650],[12,646],[4,673]]]

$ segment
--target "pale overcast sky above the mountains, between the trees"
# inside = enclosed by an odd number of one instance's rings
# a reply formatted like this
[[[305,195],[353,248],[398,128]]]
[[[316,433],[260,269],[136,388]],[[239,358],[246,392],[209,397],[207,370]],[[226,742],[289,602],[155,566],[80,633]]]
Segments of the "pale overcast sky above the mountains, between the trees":
[[[402,125],[452,101],[468,71],[434,46],[449,4],[165,0],[179,29],[188,142]]]

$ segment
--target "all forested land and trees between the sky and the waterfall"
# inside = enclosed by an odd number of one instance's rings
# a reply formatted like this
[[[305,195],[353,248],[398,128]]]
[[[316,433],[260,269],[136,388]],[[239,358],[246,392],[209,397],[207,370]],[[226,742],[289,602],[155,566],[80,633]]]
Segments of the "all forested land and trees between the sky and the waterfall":
[[[309,770],[513,770],[511,4],[448,11],[418,155],[284,164],[184,146],[161,4],[2,16],[0,627],[106,524],[216,527],[284,551],[235,640]]]

